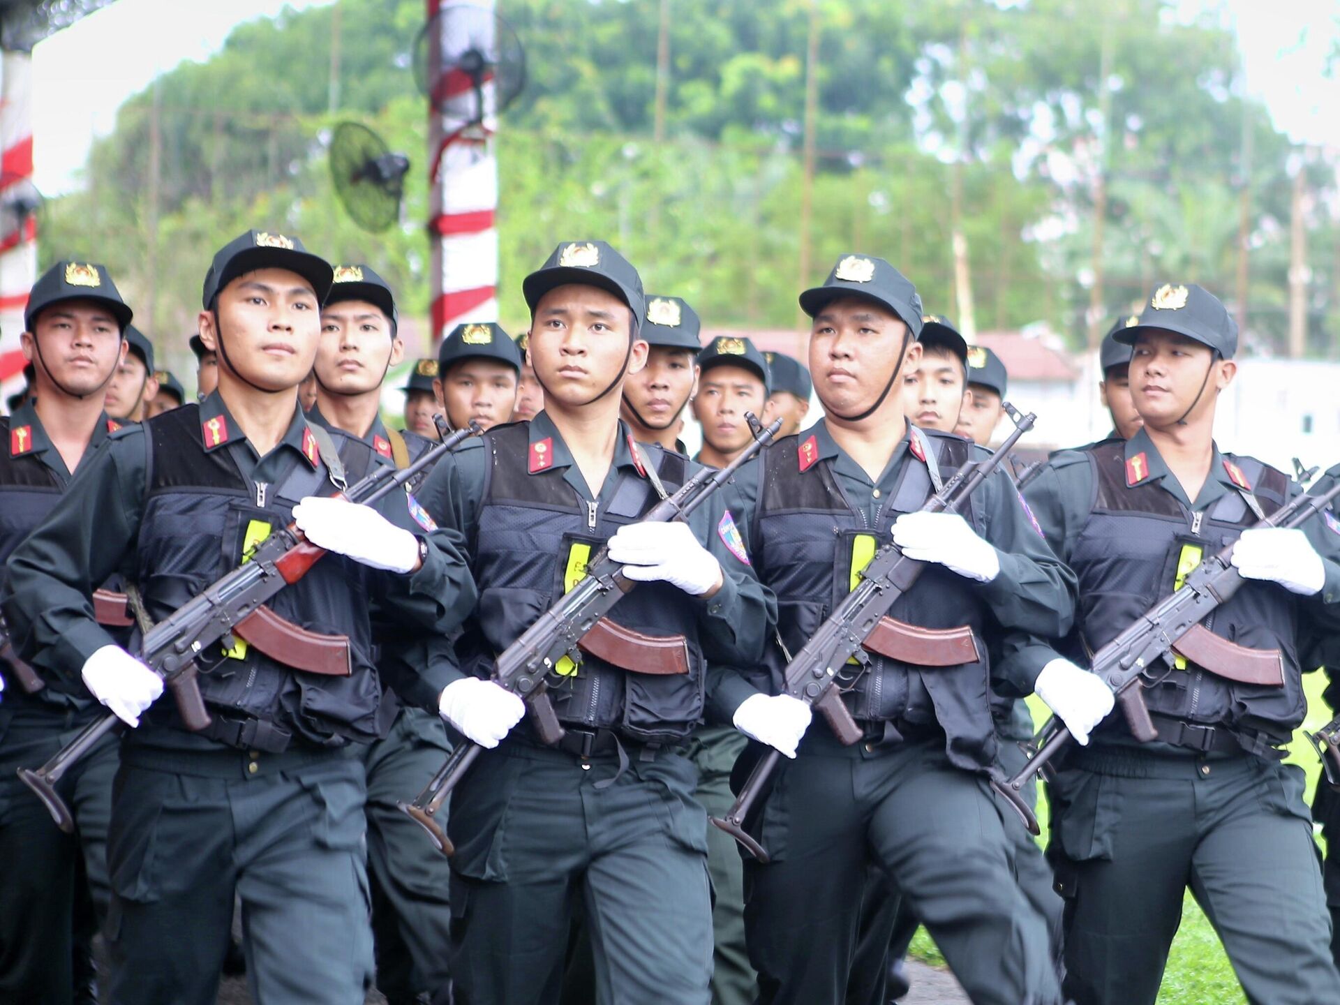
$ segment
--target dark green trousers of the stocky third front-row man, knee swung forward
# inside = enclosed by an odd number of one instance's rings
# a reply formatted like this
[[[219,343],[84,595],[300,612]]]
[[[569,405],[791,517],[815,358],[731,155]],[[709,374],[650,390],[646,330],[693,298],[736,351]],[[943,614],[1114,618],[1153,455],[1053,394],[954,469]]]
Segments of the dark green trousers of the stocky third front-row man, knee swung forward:
[[[1001,812],[942,741],[844,748],[811,730],[754,823],[772,862],[745,863],[760,1001],[843,1001],[871,866],[898,883],[974,1002],[1060,1001],[1045,925],[1010,866],[1005,825],[1018,823]]]

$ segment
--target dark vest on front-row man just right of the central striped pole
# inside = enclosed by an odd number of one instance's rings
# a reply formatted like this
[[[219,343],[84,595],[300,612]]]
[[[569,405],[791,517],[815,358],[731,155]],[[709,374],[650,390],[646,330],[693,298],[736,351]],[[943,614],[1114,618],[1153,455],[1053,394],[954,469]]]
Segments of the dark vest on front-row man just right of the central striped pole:
[[[484,434],[484,493],[476,537],[470,543],[478,607],[461,642],[461,667],[488,677],[493,658],[507,649],[580,576],[583,555],[595,557],[623,524],[635,523],[658,497],[653,486],[624,469],[604,512],[551,469],[529,474],[527,423]],[[649,448],[666,492],[685,481],[686,458]],[[689,673],[641,674],[582,654],[575,673],[549,677],[548,693],[559,721],[586,729],[612,729],[636,742],[674,742],[702,717],[706,666],[690,600],[666,583],[642,583],[607,615],[618,624],[657,636],[683,636]]]

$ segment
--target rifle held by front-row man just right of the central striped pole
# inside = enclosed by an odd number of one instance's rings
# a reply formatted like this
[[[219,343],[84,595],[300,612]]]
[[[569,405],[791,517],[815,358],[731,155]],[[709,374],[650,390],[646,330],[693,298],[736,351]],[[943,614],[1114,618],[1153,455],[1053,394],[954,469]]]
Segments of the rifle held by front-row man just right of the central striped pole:
[[[661,500],[647,512],[642,517],[643,523],[657,524],[687,519],[704,500],[730,481],[741,465],[772,442],[777,430],[781,429],[781,419],[768,427],[764,427],[753,413],[746,411],[745,419],[749,422],[754,440],[745,448],[744,453],[721,470],[713,468],[699,470],[678,492]],[[611,630],[628,632],[627,628],[620,628],[602,619],[618,603],[619,598],[635,586],[636,582],[623,576],[623,565],[612,561],[607,549],[600,548],[587,565],[586,576],[553,607],[541,614],[497,658],[493,683],[525,701],[541,742],[557,744],[564,736],[563,726],[559,724],[553,704],[545,690],[549,673],[563,657],[575,657],[578,649],[602,655],[602,649],[608,649],[611,643],[618,642],[618,639],[610,638]],[[602,643],[590,645],[590,641],[602,635],[606,636]],[[662,670],[661,673],[674,673],[674,670]],[[437,813],[446,797],[452,795],[452,789],[474,764],[481,749],[478,744],[462,738],[427,787],[414,797],[414,801],[397,804],[402,812],[427,831],[433,844],[444,855],[454,854],[456,848],[448,839],[446,831],[437,823]]]

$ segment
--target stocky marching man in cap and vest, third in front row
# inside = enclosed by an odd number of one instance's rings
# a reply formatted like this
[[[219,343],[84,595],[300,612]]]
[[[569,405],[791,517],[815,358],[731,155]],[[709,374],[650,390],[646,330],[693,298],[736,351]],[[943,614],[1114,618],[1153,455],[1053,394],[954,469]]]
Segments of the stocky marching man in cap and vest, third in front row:
[[[864,741],[843,746],[816,724],[783,762],[750,823],[770,862],[745,864],[758,1001],[843,1000],[874,866],[902,890],[973,1001],[1057,1002],[1045,926],[1013,878],[1005,827],[1018,823],[1002,820],[988,788],[996,734],[984,634],[997,624],[1064,631],[1073,580],[1004,472],[974,493],[965,516],[914,512],[938,480],[985,454],[904,419],[902,373],[921,359],[913,284],[882,259],[848,255],[800,306],[813,318],[809,371],[824,418],[736,480],[750,559],[777,595],[780,643],[756,686],[780,690],[787,654],[888,537],[930,564],[892,616],[929,628],[966,622],[980,659],[922,669],[871,657],[843,693]],[[1051,701],[1084,732],[1111,708],[1111,693],[1076,671]],[[744,712],[736,724],[752,733]]]

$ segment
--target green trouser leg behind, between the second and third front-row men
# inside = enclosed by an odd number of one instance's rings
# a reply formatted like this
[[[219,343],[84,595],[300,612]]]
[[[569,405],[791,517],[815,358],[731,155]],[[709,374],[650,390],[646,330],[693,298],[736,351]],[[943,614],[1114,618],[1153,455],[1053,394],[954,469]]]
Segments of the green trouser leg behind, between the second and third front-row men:
[[[725,816],[736,797],[730,769],[744,753],[748,737],[733,726],[702,726],[689,744],[698,769],[697,796],[708,816]],[[713,1005],[749,1005],[757,978],[745,947],[744,863],[736,840],[708,827],[708,871],[712,875],[712,1001]]]

